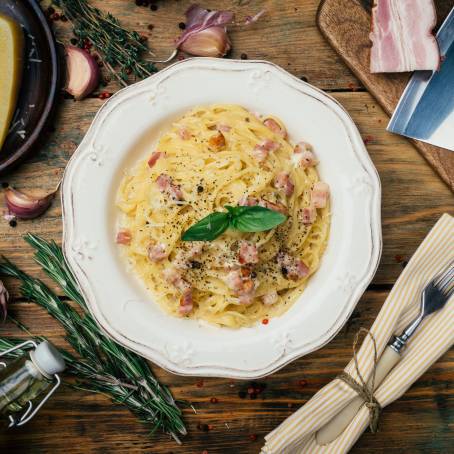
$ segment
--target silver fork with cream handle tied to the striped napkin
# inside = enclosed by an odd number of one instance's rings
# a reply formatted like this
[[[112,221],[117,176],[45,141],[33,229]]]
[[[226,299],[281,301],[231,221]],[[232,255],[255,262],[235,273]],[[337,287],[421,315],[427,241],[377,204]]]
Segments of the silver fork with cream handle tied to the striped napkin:
[[[421,294],[419,315],[404,329],[400,336],[395,336],[388,344],[378,361],[374,389],[376,389],[391,369],[401,359],[400,352],[405,347],[408,339],[417,330],[425,317],[443,308],[454,293],[454,260],[424,287]],[[372,378],[368,381],[371,386]],[[335,440],[350,424],[364,400],[357,396],[345,406],[336,416],[323,426],[316,434],[319,445],[325,445]]]

